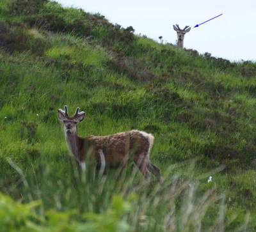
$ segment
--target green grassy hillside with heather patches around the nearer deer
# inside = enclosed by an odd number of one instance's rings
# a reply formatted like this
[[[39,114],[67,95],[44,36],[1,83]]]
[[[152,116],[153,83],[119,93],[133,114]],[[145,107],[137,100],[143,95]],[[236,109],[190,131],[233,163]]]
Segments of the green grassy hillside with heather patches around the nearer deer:
[[[256,64],[133,32],[54,2],[1,1],[0,231],[255,231]],[[81,136],[154,134],[164,183],[133,167],[79,170],[64,104],[86,111]]]

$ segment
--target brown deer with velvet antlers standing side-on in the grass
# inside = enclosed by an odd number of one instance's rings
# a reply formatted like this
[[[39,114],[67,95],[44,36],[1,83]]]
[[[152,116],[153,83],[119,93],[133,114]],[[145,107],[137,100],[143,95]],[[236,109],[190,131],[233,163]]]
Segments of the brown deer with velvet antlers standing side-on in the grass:
[[[154,143],[154,136],[140,130],[130,130],[112,135],[79,137],[77,123],[83,121],[85,112],[77,107],[74,116],[68,116],[68,107],[58,109],[58,120],[63,123],[68,150],[85,167],[85,160],[94,159],[102,173],[105,166],[124,168],[134,162],[146,180],[151,174],[161,180],[158,167],[150,162],[149,155]],[[151,173],[151,174],[150,174]]]

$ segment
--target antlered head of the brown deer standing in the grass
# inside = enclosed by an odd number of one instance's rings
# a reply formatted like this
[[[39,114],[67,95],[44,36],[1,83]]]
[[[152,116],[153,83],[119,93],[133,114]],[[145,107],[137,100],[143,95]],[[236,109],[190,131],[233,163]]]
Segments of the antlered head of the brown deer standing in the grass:
[[[64,130],[66,134],[76,134],[76,125],[80,121],[83,121],[85,112],[79,112],[79,107],[76,109],[76,113],[71,118],[68,116],[68,107],[64,106],[64,111],[58,109],[58,119],[64,124]]]

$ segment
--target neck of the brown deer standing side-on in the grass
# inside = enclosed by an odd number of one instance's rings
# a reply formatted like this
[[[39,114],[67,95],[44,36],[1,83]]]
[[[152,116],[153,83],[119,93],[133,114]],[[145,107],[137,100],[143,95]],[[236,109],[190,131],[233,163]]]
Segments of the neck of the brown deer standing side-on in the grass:
[[[81,147],[83,146],[83,139],[79,138],[77,134],[65,134],[66,141],[68,144],[68,149],[77,159],[77,161],[81,162]]]

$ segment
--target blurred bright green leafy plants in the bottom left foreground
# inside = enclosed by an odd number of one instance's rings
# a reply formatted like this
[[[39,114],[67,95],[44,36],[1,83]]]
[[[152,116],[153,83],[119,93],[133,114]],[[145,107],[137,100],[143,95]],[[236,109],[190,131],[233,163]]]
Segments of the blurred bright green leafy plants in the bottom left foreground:
[[[131,226],[124,219],[131,206],[120,196],[113,196],[111,205],[106,212],[84,213],[80,215],[77,210],[56,212],[48,210],[44,217],[35,213],[41,205],[40,201],[28,204],[16,203],[10,197],[0,193],[0,231],[131,231]],[[76,217],[83,220],[76,221]]]

